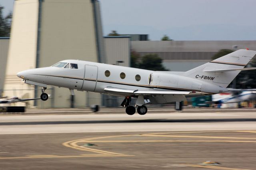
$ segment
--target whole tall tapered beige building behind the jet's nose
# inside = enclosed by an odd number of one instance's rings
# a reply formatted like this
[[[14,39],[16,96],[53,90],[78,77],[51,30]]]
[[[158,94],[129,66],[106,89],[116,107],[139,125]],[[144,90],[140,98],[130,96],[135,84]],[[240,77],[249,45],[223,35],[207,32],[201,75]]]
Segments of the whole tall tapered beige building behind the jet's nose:
[[[22,83],[16,73],[46,67],[60,60],[104,61],[104,43],[97,0],[14,1],[10,48],[4,91],[6,96],[33,98],[40,88]],[[30,106],[69,107],[70,92],[49,87],[52,98],[30,102]],[[100,104],[100,94],[75,92],[75,106]]]

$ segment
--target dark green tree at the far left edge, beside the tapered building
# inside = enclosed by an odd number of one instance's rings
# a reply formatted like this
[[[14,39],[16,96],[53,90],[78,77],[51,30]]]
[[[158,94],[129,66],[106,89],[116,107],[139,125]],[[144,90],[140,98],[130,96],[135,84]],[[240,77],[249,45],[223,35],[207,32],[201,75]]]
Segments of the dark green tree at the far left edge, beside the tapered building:
[[[0,37],[10,37],[12,13],[3,16],[3,6],[0,6]]]

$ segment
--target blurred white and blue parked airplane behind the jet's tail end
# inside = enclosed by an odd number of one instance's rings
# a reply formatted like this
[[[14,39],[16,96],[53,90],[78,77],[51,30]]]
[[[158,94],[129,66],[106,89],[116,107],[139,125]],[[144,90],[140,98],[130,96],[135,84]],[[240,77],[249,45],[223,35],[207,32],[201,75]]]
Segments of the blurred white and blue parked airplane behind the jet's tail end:
[[[215,104],[240,103],[252,100],[256,100],[256,89],[231,88],[229,92],[212,95],[212,102]]]

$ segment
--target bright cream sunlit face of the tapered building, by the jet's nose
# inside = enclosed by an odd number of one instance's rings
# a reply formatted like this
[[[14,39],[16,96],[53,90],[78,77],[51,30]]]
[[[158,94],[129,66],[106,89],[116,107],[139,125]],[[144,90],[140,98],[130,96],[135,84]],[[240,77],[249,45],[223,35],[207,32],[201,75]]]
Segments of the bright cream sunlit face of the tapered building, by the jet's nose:
[[[8,52],[5,96],[34,97],[34,86],[23,84],[17,72],[35,68],[38,25],[38,0],[16,0],[12,16],[12,30]],[[22,91],[14,91],[22,89]],[[30,102],[31,104],[32,102]],[[17,103],[16,105],[24,105]]]

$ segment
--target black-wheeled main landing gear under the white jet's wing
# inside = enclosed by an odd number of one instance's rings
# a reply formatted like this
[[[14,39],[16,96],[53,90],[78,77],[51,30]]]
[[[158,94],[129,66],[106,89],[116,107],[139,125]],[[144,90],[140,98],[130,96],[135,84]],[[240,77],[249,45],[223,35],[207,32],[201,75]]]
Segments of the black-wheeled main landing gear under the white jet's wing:
[[[130,102],[131,102],[131,98],[128,96],[124,99],[121,106],[126,107],[125,111],[128,115],[133,115],[136,112],[136,108],[134,106],[131,106]],[[148,108],[145,105],[138,106],[137,112],[140,115],[144,115],[148,112]]]

